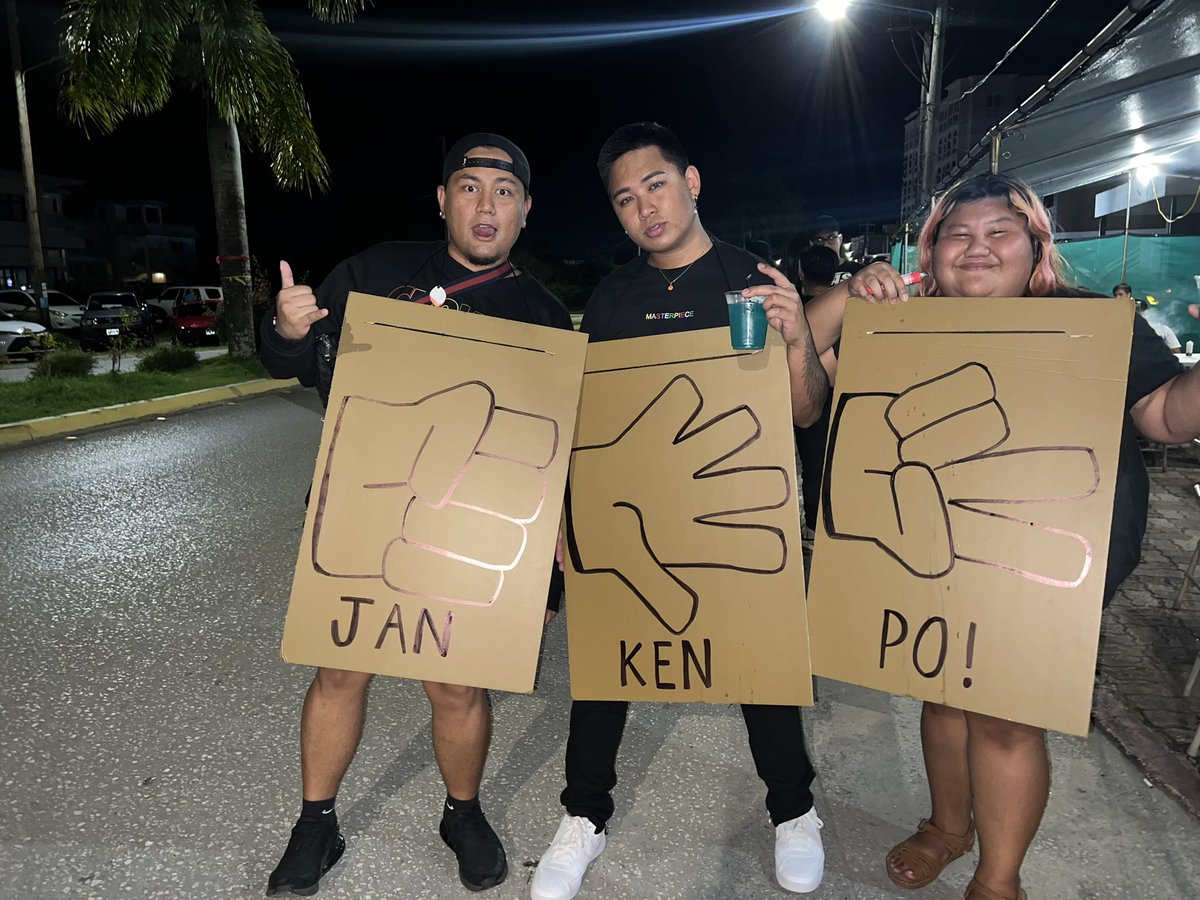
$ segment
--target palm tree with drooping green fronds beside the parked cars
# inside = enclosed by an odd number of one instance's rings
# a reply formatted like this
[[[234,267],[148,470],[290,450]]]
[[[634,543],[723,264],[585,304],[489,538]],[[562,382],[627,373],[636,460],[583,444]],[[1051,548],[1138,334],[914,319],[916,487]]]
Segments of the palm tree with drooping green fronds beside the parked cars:
[[[346,22],[372,0],[311,0]],[[241,138],[288,190],[329,185],[295,66],[254,0],[68,0],[60,103],[77,125],[112,132],[126,115],[162,109],[176,85],[209,101],[209,166],[229,355],[254,355]]]

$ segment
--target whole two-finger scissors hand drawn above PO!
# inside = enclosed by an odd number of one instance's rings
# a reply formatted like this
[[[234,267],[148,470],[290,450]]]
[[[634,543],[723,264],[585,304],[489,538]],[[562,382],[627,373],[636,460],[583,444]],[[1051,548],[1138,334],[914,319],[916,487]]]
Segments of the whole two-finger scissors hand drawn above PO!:
[[[977,563],[1075,587],[1091,542],[1034,521],[1038,504],[1091,497],[1094,451],[1004,446],[991,373],[964,365],[899,394],[844,394],[829,430],[822,518],[834,539],[871,541],[920,578]],[[997,546],[1007,558],[995,558]]]

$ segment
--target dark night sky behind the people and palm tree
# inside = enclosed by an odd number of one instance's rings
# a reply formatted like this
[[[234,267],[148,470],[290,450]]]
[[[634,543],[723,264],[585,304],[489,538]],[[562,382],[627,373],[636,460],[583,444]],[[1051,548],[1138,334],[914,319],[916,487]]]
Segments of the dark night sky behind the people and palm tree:
[[[1050,1],[959,0],[944,80],[991,68]],[[1061,0],[1001,72],[1049,76],[1123,6]],[[61,4],[20,7],[29,67],[54,55]],[[295,59],[331,190],[278,191],[244,145],[251,251],[314,280],[377,241],[439,238],[442,146],[469,131],[505,134],[529,156],[534,208],[518,247],[546,256],[629,256],[595,156],[640,119],[680,136],[701,172],[702,218],[722,236],[768,222],[798,232],[820,212],[847,234],[898,217],[904,118],[919,97],[905,68],[917,70],[919,41],[904,29],[925,18],[866,2],[835,26],[806,4],[379,0],[354,24],[320,25],[295,1],[262,7]],[[7,41],[2,54],[8,66]],[[58,116],[58,77],[53,64],[29,76],[38,172],[84,179],[82,197],[166,200],[168,221],[199,230],[202,275],[215,277],[202,98],[180,91],[162,113],[86,138]],[[17,169],[11,77],[0,121],[0,167]]]

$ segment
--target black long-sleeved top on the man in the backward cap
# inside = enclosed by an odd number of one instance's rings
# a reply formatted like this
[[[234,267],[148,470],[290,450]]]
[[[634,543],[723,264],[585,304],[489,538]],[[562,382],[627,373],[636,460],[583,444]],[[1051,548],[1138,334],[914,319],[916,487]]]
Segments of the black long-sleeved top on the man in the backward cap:
[[[473,272],[456,263],[445,241],[390,241],[344,259],[317,288],[317,305],[329,316],[317,322],[299,341],[288,341],[271,324],[274,312],[263,319],[259,356],[275,378],[298,378],[300,384],[317,382],[317,353],[322,335],[342,330],[346,299],[352,290],[397,300],[420,300],[440,284],[446,286]],[[571,316],[562,301],[532,275],[514,274],[462,294],[461,308],[512,322],[570,329]],[[326,397],[322,397],[326,400]]]

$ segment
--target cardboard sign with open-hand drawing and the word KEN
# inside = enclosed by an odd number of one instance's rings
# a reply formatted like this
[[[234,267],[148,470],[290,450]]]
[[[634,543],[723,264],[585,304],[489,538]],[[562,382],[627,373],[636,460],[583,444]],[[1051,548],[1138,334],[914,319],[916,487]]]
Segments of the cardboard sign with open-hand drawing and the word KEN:
[[[568,512],[577,700],[812,703],[782,340],[588,348]]]

